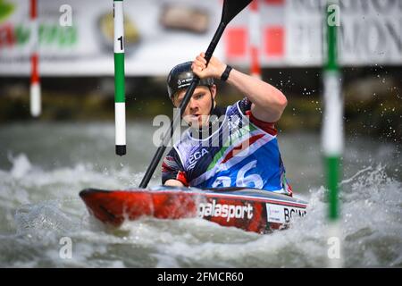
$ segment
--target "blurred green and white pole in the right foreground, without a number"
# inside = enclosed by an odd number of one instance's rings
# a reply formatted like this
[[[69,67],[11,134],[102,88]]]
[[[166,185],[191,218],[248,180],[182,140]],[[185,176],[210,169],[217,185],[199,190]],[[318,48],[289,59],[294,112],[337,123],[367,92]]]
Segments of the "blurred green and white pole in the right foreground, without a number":
[[[324,114],[322,126],[322,150],[329,189],[328,262],[330,267],[342,267],[341,230],[339,222],[340,156],[343,151],[343,98],[341,74],[338,64],[339,5],[327,3],[325,13],[326,63],[323,71]],[[337,14],[338,13],[338,14]],[[325,45],[326,44],[326,45]]]

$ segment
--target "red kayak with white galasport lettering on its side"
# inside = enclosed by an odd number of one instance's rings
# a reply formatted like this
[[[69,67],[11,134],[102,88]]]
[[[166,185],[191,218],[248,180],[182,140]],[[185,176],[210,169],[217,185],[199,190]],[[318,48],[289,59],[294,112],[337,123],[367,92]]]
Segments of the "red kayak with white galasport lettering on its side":
[[[306,215],[307,203],[261,189],[84,189],[80,197],[98,220],[120,226],[141,216],[158,219],[201,217],[222,226],[266,233]]]

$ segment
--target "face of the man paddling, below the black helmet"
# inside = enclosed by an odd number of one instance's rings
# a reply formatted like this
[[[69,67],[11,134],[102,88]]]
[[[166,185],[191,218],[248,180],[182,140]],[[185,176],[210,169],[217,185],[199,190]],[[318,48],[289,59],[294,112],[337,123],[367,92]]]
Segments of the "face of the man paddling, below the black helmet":
[[[186,89],[180,90],[178,95],[173,99],[173,105],[175,107],[179,107],[185,95]],[[214,102],[211,100],[211,95],[213,98],[215,98],[215,85],[211,87],[211,89],[208,87],[200,86],[197,87],[194,91],[194,94],[190,98],[187,108],[183,114],[183,119],[188,122],[188,124],[192,127],[199,128],[201,126],[208,125],[211,105],[214,104]]]

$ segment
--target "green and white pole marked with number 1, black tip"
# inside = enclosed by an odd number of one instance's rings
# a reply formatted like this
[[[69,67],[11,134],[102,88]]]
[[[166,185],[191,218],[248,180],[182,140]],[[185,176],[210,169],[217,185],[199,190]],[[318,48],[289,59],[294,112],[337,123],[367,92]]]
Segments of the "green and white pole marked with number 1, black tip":
[[[124,97],[123,1],[113,0],[114,21],[114,121],[116,154],[126,154],[126,103]]]

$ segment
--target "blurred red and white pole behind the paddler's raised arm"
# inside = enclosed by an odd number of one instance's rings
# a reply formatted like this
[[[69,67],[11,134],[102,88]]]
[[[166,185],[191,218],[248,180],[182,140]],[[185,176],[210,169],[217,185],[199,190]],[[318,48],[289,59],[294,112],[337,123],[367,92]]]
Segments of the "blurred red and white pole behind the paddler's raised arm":
[[[257,79],[262,78],[260,64],[260,13],[259,0],[250,3],[250,16],[248,23],[249,43],[250,43],[250,74]]]

